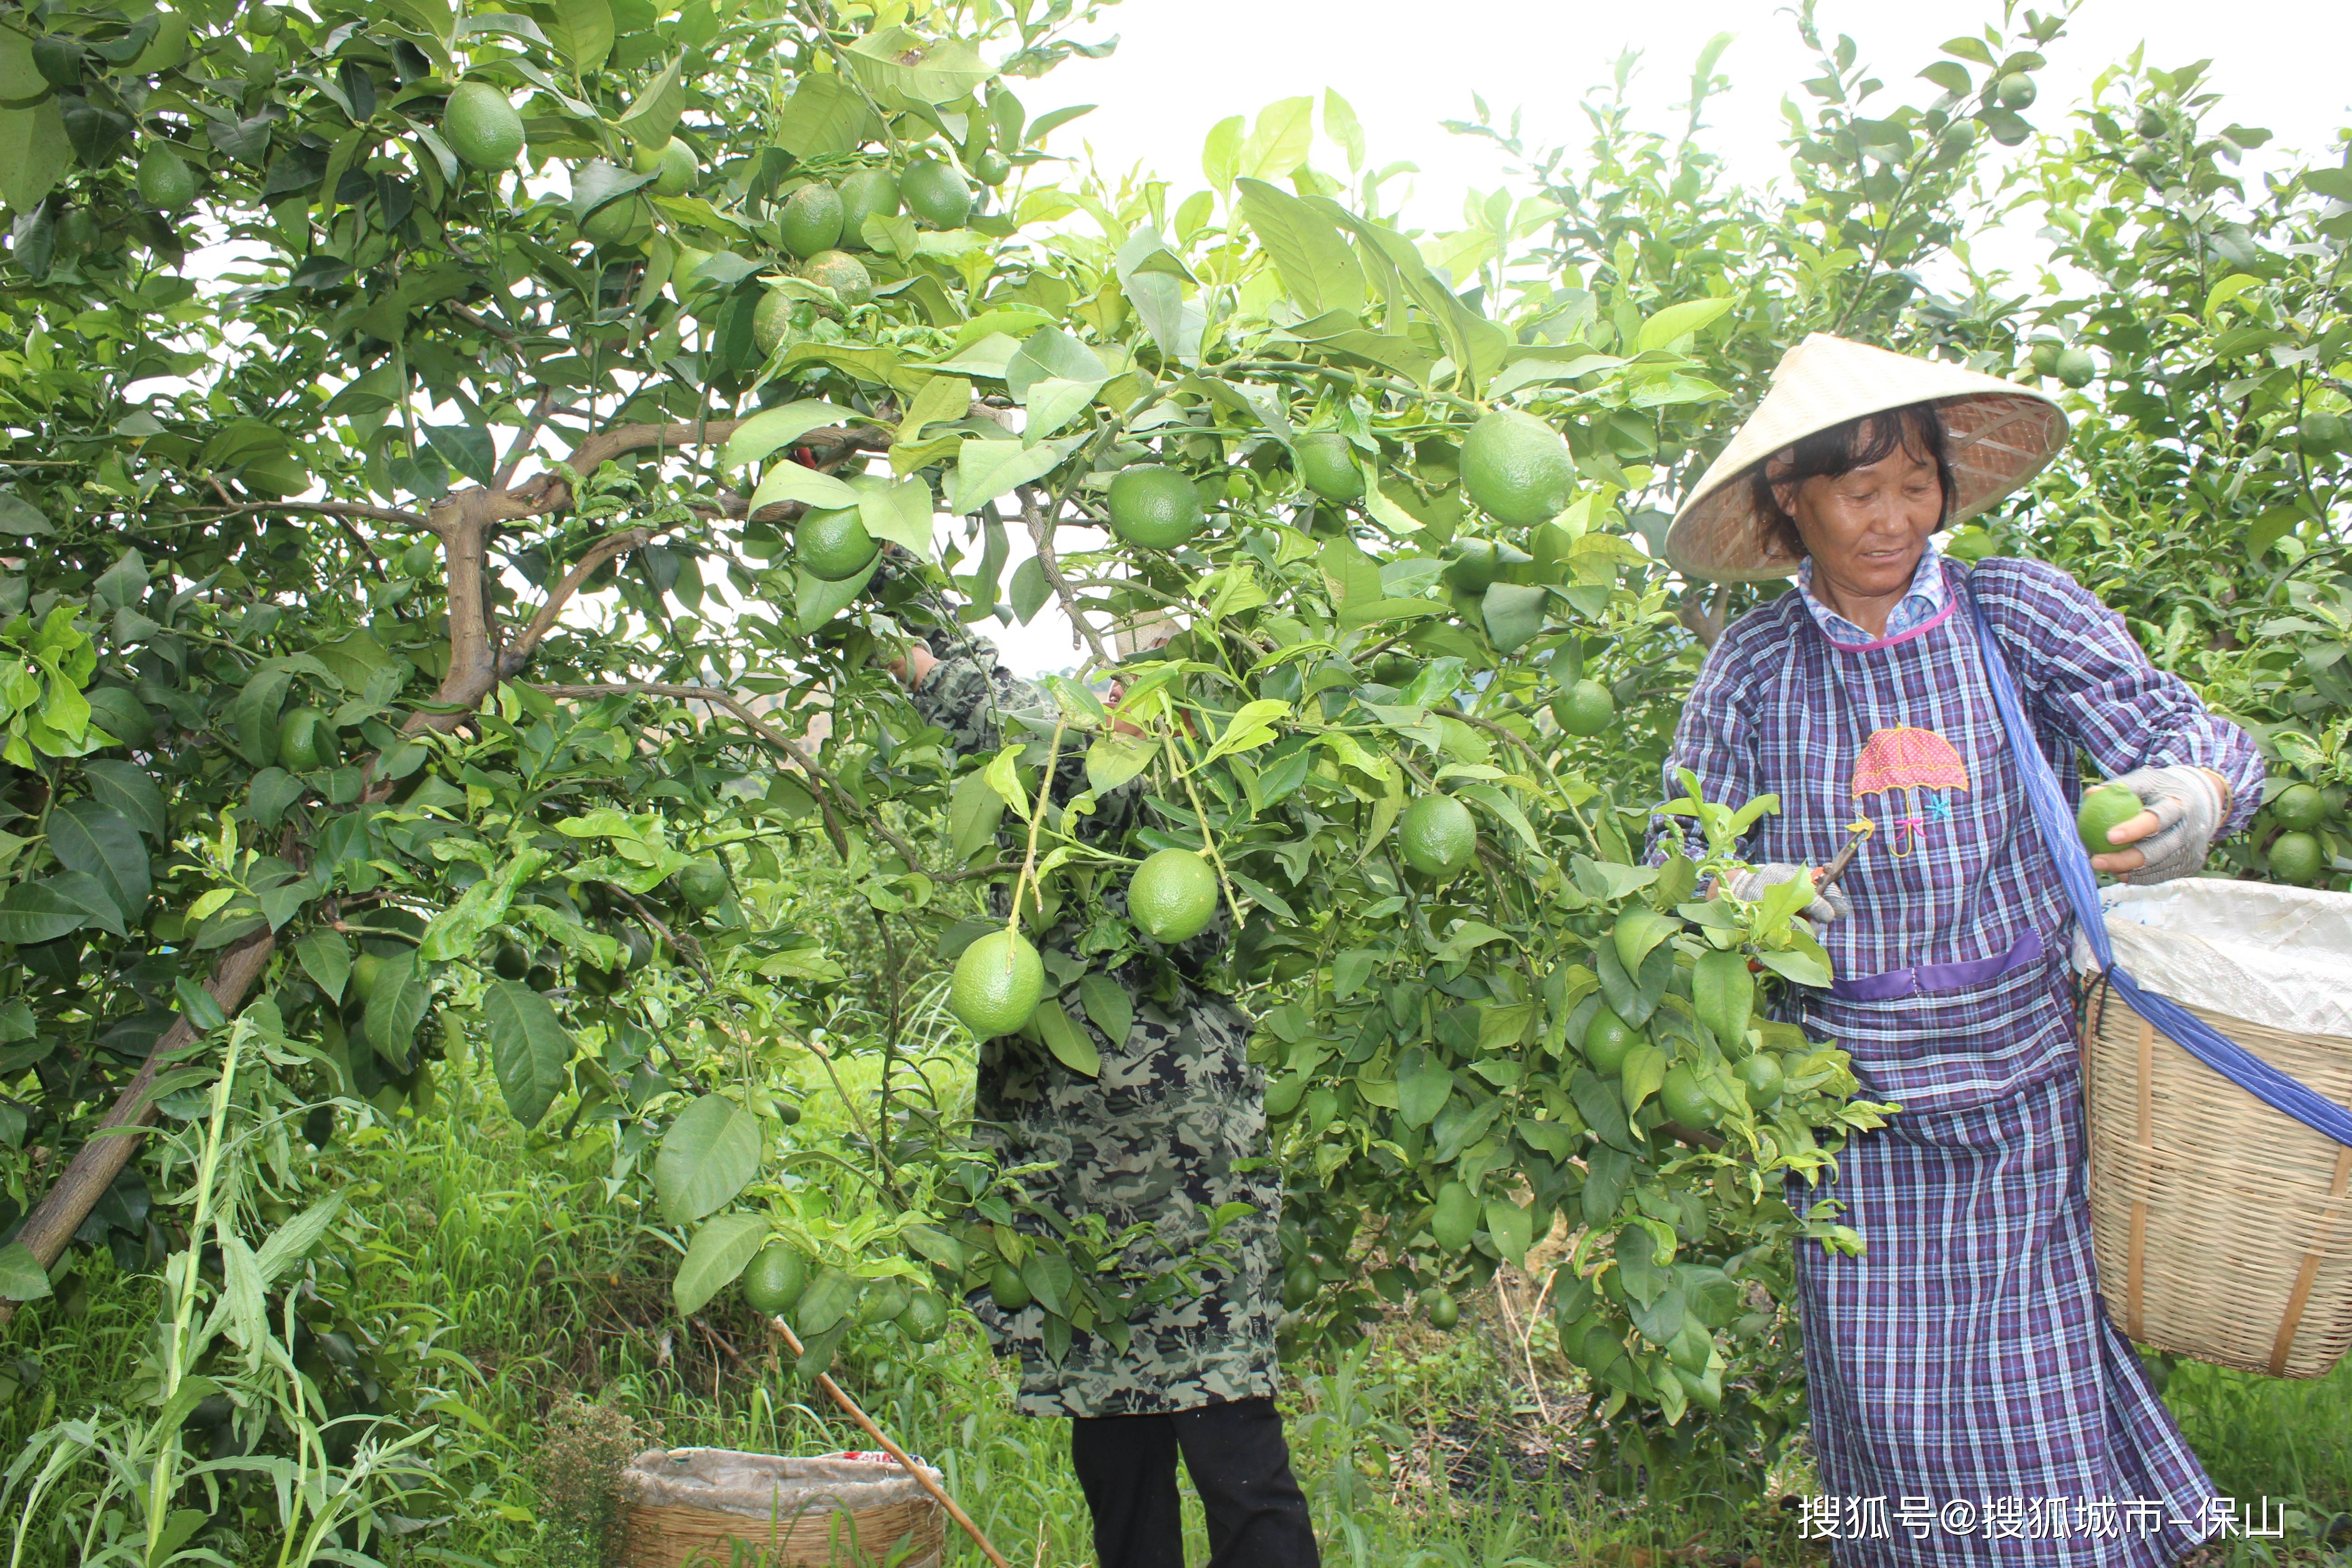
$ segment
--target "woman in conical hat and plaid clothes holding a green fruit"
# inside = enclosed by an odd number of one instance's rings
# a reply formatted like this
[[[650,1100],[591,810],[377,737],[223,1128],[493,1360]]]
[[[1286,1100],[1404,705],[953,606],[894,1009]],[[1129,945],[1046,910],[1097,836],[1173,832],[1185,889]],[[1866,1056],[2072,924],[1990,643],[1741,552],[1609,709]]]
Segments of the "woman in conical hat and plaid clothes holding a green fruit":
[[[2063,440],[2039,393],[1816,334],[1665,541],[1693,578],[1797,576],[1710,649],[1668,757],[1668,795],[1686,766],[1715,802],[1780,797],[1729,891],[1811,877],[1872,825],[1806,910],[1839,978],[1797,994],[1790,1023],[1837,1039],[1863,1093],[1903,1110],[1818,1194],[1865,1251],[1797,1260],[1806,1382],[1820,1490],[1936,1523],[1842,1540],[1839,1563],[2164,1563],[2216,1519],[2098,1298],[2067,898],[1987,658],[2070,792],[2077,752],[2129,792],[2084,813],[2103,872],[2194,875],[2253,816],[2263,764],[2065,571],[1938,555],[1938,529]],[[2143,1500],[2164,1505],[2159,1530],[2082,1537],[2103,1505]],[[1947,1505],[1990,1519],[2011,1502],[2016,1540],[1945,1528]]]

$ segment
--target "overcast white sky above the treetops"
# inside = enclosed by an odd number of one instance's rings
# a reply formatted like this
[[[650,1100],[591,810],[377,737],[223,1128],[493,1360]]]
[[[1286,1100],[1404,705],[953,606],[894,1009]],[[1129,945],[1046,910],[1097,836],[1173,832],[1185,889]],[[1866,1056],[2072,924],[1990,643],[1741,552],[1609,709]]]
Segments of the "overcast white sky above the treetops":
[[[1933,94],[1912,73],[1947,38],[1999,26],[2002,7],[1820,0],[1816,14],[1823,35],[1853,35],[1860,59],[1879,66],[1891,108]],[[1740,176],[1762,181],[1783,167],[1780,99],[1816,75],[1788,9],[1766,0],[1124,0],[1103,12],[1101,33],[1120,35],[1110,59],[1073,59],[1023,85],[1033,115],[1098,103],[1056,132],[1056,148],[1075,153],[1084,143],[1110,167],[1143,162],[1181,195],[1207,183],[1200,148],[1211,125],[1336,87],[1364,125],[1374,165],[1421,167],[1406,216],[1437,228],[1458,226],[1465,190],[1503,183],[1494,143],[1439,125],[1468,120],[1472,92],[1498,122],[1524,110],[1531,143],[1573,143],[1585,136],[1578,101],[1630,47],[1642,52],[1637,99],[1672,125],[1668,106],[1689,96],[1698,49],[1715,33],[1733,33],[1717,63],[1731,89],[1708,106],[1710,139]],[[2089,0],[2049,49],[2032,118],[2056,125],[2103,68],[2143,42],[2147,61],[2166,68],[2211,56],[2206,80],[2225,94],[2223,113],[2277,132],[2265,153],[2326,148],[2352,125],[2347,0]],[[1315,158],[1338,172],[1329,148]],[[1028,628],[985,630],[1016,670],[1075,663],[1070,628],[1054,607]]]

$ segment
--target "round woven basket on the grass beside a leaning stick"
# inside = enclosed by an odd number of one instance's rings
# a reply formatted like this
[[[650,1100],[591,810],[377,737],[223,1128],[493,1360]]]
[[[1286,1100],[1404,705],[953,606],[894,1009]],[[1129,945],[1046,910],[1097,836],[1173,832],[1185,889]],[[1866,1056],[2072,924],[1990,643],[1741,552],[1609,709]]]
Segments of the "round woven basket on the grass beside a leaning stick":
[[[623,1472],[626,1568],[938,1568],[943,1544],[896,1465],[652,1448]]]

